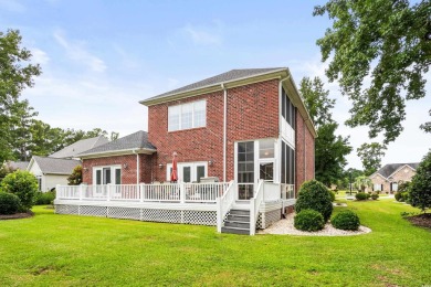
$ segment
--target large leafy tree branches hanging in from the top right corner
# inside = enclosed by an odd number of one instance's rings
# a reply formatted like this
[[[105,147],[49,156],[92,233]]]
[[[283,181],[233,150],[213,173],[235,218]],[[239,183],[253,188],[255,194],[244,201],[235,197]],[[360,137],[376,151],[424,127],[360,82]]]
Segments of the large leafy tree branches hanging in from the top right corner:
[[[430,11],[430,0],[329,0],[315,7],[314,15],[334,20],[317,45],[323,61],[330,59],[329,81],[338,79],[353,102],[347,125],[369,126],[370,138],[383,132],[385,144],[400,135],[406,100],[425,96]],[[422,129],[431,131],[427,127],[430,123]]]

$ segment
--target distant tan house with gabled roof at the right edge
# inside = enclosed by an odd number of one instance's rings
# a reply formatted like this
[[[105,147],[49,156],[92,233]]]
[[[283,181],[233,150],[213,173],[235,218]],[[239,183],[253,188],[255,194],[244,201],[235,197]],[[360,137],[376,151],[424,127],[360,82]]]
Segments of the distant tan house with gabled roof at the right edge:
[[[400,183],[411,181],[418,166],[419,162],[386,164],[369,177],[372,190],[390,193],[398,191]]]

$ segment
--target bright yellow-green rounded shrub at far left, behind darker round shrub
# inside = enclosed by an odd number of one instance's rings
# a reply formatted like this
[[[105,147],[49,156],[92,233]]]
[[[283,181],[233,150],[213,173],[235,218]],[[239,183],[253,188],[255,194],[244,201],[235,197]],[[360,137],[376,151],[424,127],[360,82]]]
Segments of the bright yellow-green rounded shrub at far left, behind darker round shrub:
[[[1,181],[2,191],[20,199],[20,211],[29,211],[33,206],[38,189],[38,180],[29,171],[17,170]]]

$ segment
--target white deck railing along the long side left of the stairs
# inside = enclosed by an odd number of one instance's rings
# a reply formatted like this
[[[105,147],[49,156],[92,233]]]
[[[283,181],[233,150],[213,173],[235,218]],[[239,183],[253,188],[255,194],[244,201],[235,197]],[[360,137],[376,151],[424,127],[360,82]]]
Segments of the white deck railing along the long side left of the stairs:
[[[199,202],[216,203],[228,189],[227,182],[57,185],[59,200]]]

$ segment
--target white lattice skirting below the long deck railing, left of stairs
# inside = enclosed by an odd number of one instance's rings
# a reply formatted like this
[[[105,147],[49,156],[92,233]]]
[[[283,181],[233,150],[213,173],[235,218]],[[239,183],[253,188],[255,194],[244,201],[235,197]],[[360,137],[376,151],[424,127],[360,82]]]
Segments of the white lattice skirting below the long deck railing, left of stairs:
[[[120,220],[217,225],[216,211],[56,204],[55,213]]]

